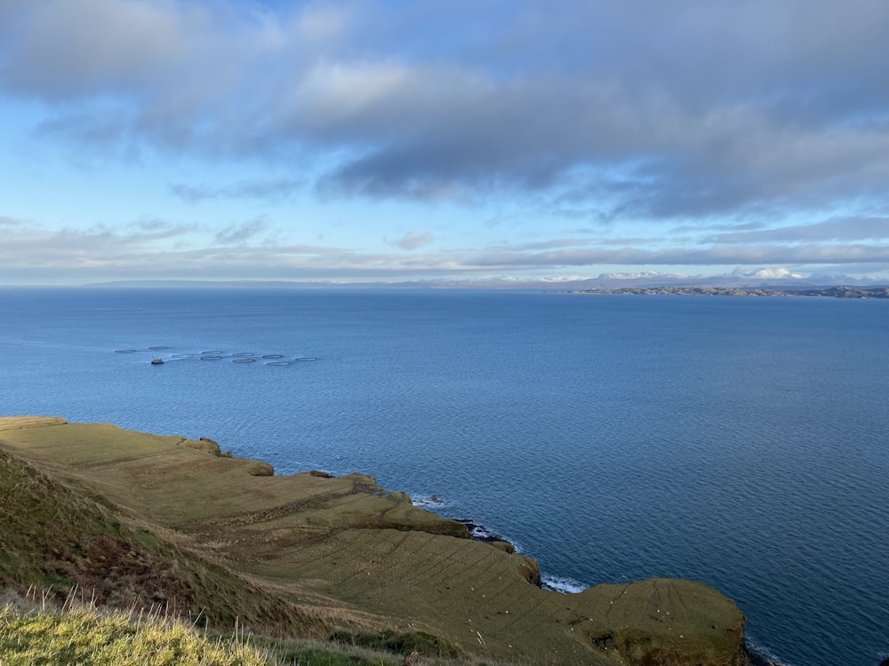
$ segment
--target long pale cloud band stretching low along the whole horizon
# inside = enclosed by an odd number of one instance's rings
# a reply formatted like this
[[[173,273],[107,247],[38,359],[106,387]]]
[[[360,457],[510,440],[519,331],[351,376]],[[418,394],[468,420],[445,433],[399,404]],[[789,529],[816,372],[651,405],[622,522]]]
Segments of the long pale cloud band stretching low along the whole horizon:
[[[0,274],[4,281],[60,276],[71,282],[116,279],[416,279],[471,274],[558,274],[566,266],[889,266],[889,244],[805,242],[765,245],[716,244],[652,249],[567,238],[551,242],[468,248],[379,252],[305,243],[270,243],[261,219],[228,226],[215,236],[163,219],[144,219],[122,229],[52,230],[25,222],[4,228]],[[405,234],[411,246],[425,234]],[[431,239],[429,239],[431,240]],[[397,245],[397,243],[396,243]],[[634,269],[636,270],[636,269]],[[863,270],[863,268],[858,269]],[[582,272],[582,271],[581,271]],[[33,276],[33,277],[32,277]]]

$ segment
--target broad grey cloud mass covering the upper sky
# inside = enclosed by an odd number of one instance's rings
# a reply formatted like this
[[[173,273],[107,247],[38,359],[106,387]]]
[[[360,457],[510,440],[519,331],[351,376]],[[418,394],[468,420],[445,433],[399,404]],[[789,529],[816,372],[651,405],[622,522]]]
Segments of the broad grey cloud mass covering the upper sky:
[[[3,11],[0,91],[36,100],[36,140],[293,171],[268,189],[172,185],[187,201],[289,196],[311,173],[326,200],[509,198],[603,220],[889,203],[882,0]]]

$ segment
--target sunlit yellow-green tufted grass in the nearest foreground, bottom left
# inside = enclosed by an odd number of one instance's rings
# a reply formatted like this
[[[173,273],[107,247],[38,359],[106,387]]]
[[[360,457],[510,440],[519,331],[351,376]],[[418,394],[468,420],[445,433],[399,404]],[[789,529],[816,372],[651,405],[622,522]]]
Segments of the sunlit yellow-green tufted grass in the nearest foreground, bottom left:
[[[273,639],[239,630],[210,635],[197,623],[159,611],[133,612],[53,607],[51,593],[28,600],[0,595],[0,664],[3,666],[401,666],[404,656],[423,666],[477,666],[424,635]],[[430,642],[431,641],[431,642]],[[417,654],[423,654],[422,659]],[[436,655],[437,656],[434,656]]]

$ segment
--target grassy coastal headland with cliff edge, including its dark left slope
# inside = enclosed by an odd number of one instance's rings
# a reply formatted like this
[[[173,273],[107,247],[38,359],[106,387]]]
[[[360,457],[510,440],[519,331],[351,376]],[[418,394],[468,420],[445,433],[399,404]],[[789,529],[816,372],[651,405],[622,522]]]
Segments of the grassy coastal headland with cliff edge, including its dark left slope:
[[[533,559],[372,477],[268,472],[212,440],[0,418],[0,582],[277,635],[429,635],[489,660],[747,664],[743,615],[706,585],[544,591]]]

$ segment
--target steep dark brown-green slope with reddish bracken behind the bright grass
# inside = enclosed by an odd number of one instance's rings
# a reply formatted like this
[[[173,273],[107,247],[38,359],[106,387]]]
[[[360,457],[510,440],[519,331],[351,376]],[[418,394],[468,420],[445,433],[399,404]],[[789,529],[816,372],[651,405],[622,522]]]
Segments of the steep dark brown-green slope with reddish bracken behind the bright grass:
[[[99,605],[200,614],[219,628],[250,622],[318,637],[330,630],[226,567],[116,519],[2,449],[0,526],[0,583],[19,590],[47,589],[60,600],[76,589]]]

